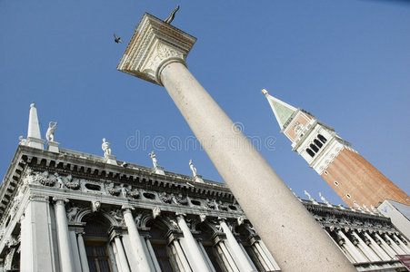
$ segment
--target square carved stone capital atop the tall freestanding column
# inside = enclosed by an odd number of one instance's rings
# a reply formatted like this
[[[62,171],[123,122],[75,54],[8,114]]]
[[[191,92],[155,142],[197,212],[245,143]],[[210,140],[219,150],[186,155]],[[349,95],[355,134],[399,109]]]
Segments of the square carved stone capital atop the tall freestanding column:
[[[167,63],[184,63],[196,38],[145,13],[117,70],[162,85],[159,74]]]

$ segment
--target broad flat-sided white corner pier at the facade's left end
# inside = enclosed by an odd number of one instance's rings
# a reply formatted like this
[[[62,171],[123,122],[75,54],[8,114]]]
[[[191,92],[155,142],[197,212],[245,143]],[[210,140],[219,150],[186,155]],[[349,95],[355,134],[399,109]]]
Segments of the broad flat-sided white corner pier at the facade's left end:
[[[47,196],[31,195],[21,220],[21,271],[55,271],[50,205]]]

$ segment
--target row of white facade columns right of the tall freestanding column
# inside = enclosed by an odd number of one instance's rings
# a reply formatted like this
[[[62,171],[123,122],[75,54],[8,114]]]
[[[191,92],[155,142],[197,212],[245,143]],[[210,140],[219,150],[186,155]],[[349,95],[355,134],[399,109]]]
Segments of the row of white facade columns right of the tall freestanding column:
[[[405,237],[396,233],[362,229],[335,230],[339,246],[352,263],[373,263],[396,259],[396,255],[410,254]]]

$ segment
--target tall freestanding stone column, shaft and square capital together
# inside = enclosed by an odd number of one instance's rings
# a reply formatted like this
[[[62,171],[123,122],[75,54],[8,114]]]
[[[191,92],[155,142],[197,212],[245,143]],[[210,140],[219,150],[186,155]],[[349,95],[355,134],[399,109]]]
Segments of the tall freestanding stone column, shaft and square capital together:
[[[165,86],[284,271],[355,271],[275,170],[188,71],[185,58],[195,40],[145,14],[117,69]]]

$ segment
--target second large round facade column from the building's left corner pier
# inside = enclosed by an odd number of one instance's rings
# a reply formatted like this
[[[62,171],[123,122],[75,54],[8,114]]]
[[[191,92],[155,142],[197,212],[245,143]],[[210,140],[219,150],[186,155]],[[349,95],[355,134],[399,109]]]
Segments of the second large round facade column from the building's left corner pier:
[[[124,221],[125,225],[128,228],[128,235],[131,241],[132,248],[134,250],[134,256],[138,263],[139,271],[149,271],[150,266],[148,263],[148,257],[145,254],[144,250],[144,241],[143,238],[138,233],[138,228],[136,228],[135,220],[131,212],[131,207],[123,206]]]

